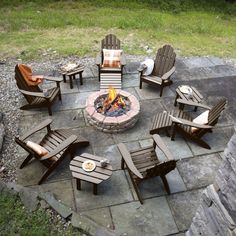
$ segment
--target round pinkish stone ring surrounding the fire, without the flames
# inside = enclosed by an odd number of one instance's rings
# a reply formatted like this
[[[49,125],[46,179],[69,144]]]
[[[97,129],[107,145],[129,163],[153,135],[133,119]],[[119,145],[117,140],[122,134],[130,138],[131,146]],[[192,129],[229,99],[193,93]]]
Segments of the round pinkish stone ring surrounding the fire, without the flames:
[[[130,101],[130,110],[125,114],[110,117],[105,114],[98,113],[95,108],[95,101],[98,97],[108,94],[108,90],[101,90],[91,94],[86,101],[86,115],[89,124],[93,125],[98,130],[107,133],[123,132],[135,125],[138,120],[140,105],[137,98],[123,90],[117,90],[117,94],[120,94]]]

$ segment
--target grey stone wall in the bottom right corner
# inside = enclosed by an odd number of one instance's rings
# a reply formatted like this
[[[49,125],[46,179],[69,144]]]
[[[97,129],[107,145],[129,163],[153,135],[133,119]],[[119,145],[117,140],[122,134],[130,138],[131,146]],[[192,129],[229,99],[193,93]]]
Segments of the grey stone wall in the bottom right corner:
[[[186,236],[236,236],[236,126],[224,162],[208,186]]]

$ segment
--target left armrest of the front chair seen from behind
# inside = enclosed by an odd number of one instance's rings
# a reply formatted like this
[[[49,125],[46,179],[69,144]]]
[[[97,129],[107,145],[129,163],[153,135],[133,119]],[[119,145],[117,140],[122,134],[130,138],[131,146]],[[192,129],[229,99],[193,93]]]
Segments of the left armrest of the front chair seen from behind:
[[[127,150],[126,146],[123,143],[119,143],[119,144],[117,144],[117,147],[118,147],[120,154],[121,154],[122,158],[124,159],[127,167],[129,168],[129,170],[132,171],[140,179],[143,179],[142,174],[138,171],[138,169],[134,165],[131,155],[130,155],[129,151]]]

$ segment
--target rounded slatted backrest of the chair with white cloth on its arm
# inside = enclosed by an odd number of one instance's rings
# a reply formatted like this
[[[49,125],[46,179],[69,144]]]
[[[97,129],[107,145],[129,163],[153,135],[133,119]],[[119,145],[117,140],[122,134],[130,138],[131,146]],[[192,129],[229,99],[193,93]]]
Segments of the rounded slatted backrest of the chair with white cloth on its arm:
[[[164,45],[157,51],[152,75],[161,77],[175,64],[176,54],[170,45]]]

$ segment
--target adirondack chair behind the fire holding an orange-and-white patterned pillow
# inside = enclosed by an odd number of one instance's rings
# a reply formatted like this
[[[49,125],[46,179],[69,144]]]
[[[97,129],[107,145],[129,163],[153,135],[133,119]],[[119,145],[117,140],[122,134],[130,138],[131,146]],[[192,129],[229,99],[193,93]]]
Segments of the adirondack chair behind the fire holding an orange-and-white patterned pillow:
[[[120,55],[120,65],[117,66],[114,64],[111,65],[104,65],[104,52],[103,49],[120,49],[120,40],[114,34],[108,34],[102,41],[101,41],[101,51],[96,57],[96,65],[98,66],[98,76],[99,81],[101,79],[101,73],[115,73],[120,74],[121,78],[123,76],[123,68],[126,65],[125,55],[122,52]]]

